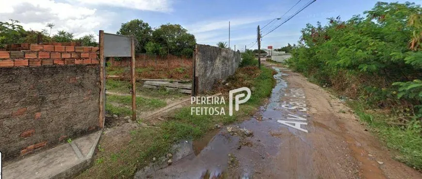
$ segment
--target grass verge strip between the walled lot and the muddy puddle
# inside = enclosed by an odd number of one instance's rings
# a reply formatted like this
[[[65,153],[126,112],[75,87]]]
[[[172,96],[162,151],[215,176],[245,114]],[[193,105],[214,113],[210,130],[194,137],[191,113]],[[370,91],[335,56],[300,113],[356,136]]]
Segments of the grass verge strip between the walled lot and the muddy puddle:
[[[250,73],[253,69],[254,73]],[[226,115],[191,115],[191,108],[185,107],[170,114],[167,121],[157,125],[157,129],[137,129],[130,131],[130,143],[116,153],[98,152],[101,163],[83,172],[78,178],[133,178],[134,173],[152,162],[153,157],[164,156],[171,146],[181,140],[198,139],[212,130],[214,124],[230,124],[253,115],[271,95],[275,85],[273,71],[269,68],[239,68],[229,79],[236,85],[253,87],[251,98],[241,104],[240,111],[228,115],[228,102],[213,107],[223,107]]]

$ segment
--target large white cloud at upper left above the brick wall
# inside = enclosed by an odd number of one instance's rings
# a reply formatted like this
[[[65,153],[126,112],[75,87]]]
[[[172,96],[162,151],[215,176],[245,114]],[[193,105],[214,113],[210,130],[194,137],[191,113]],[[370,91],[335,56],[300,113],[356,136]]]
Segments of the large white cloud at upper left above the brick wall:
[[[53,23],[52,34],[59,30],[83,34],[97,34],[100,28],[110,25],[115,13],[98,11],[80,4],[57,2],[54,0],[9,0],[1,2],[0,21],[19,20],[26,30],[41,31]]]

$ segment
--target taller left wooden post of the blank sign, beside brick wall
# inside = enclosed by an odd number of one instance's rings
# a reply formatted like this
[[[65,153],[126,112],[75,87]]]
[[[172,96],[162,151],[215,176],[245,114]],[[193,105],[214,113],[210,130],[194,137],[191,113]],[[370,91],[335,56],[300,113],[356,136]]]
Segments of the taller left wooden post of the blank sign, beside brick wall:
[[[99,31],[99,128],[104,128],[105,122],[105,62],[104,62],[104,31]]]

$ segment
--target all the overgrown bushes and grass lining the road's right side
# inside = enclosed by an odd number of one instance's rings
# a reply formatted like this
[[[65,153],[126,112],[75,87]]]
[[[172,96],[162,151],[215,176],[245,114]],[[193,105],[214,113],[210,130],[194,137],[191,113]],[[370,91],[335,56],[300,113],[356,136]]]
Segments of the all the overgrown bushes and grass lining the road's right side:
[[[287,63],[356,99],[357,114],[400,152],[396,158],[422,169],[422,8],[377,2],[364,15],[307,24]]]

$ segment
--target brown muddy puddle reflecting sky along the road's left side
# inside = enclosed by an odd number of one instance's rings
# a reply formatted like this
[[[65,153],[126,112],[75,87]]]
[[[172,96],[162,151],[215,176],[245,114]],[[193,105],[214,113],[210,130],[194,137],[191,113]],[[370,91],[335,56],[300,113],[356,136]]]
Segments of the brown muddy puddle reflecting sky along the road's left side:
[[[277,156],[279,144],[283,142],[284,134],[279,133],[279,129],[286,128],[277,120],[287,115],[280,107],[283,104],[281,98],[287,89],[283,77],[287,74],[279,68],[274,69],[277,71],[274,75],[277,82],[269,103],[254,115],[260,116],[260,120],[251,117],[242,123],[213,130],[200,140],[182,141],[174,146],[177,152],[171,159],[171,165],[167,164],[167,158],[162,159],[159,166],[146,167],[138,171],[135,178],[249,179],[271,168],[269,161]],[[253,132],[253,135],[245,135],[244,129]]]

